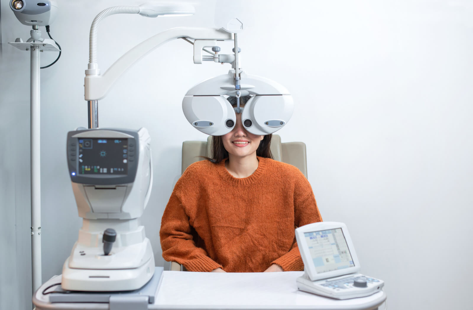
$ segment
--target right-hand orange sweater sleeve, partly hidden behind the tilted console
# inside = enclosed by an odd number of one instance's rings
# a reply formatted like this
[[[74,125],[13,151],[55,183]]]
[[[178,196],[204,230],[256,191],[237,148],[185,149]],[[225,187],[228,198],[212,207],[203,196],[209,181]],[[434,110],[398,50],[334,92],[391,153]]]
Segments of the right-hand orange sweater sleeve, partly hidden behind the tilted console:
[[[294,226],[301,227],[315,222],[322,222],[322,216],[309,181],[300,173],[294,189]],[[295,238],[289,252],[274,260],[272,264],[281,266],[284,271],[304,270]]]

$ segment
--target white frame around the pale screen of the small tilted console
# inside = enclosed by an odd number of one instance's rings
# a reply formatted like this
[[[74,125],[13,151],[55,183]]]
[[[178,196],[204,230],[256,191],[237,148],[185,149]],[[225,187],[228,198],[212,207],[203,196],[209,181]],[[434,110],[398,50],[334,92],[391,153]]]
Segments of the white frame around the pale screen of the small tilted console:
[[[304,233],[306,232],[317,232],[323,230],[331,229],[342,229],[343,236],[345,241],[347,241],[348,250],[350,251],[351,259],[353,260],[354,267],[343,268],[339,270],[327,271],[323,273],[317,273],[312,257],[310,256],[309,246],[307,245],[306,238]],[[296,240],[298,243],[298,248],[302,261],[304,262],[304,270],[312,281],[332,278],[336,276],[348,275],[351,273],[358,272],[361,267],[359,266],[358,257],[353,247],[353,243],[350,238],[350,233],[348,228],[344,223],[339,222],[318,222],[307,224],[301,227],[296,228]]]

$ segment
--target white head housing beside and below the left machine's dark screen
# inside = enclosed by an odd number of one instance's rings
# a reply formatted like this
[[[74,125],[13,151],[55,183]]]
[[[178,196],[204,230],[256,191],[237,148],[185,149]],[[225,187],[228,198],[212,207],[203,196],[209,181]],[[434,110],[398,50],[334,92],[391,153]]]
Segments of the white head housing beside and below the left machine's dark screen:
[[[140,150],[133,183],[105,186],[71,182],[80,217],[133,219],[143,214],[153,180],[151,138],[145,128],[141,128],[138,135]]]

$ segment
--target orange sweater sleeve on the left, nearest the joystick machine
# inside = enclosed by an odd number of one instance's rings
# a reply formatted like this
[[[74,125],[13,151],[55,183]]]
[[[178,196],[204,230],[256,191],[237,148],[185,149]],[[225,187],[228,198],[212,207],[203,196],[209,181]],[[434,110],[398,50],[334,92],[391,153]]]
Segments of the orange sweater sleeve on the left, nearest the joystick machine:
[[[189,216],[174,189],[164,210],[159,231],[163,258],[182,264],[189,271],[209,272],[222,268],[204,249],[195,245],[191,231]]]

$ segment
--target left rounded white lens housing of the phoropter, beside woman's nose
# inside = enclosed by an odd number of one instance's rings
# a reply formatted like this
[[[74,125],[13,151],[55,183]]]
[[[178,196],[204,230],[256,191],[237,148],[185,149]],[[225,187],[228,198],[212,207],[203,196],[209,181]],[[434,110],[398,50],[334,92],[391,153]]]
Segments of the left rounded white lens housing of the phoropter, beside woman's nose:
[[[236,124],[233,107],[223,96],[185,96],[182,110],[195,129],[208,135],[225,135]],[[226,125],[228,120],[232,120],[231,127]]]

